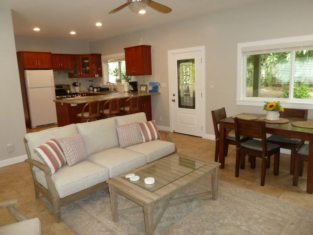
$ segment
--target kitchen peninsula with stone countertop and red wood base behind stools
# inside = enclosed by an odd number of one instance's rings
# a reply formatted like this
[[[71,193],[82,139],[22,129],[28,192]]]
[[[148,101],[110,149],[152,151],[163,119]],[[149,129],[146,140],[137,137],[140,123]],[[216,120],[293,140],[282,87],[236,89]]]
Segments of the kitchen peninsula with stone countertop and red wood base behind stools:
[[[152,95],[159,95],[160,93],[149,93],[149,92],[114,92],[114,93],[105,93],[105,92],[94,92],[88,98],[82,99],[60,99],[54,100],[55,107],[57,111],[57,119],[58,119],[58,126],[63,127],[72,123],[80,123],[81,120],[77,118],[77,114],[81,113],[83,107],[86,103],[99,100],[101,101],[102,105],[105,101],[112,99],[112,98],[119,98],[121,99],[121,107],[124,107],[125,101],[134,96],[139,96],[141,101],[139,103],[139,107],[141,112],[146,113],[147,120],[150,121],[152,119],[152,112],[151,112],[151,96]],[[89,95],[89,94],[88,94]],[[101,106],[102,109],[102,106]]]

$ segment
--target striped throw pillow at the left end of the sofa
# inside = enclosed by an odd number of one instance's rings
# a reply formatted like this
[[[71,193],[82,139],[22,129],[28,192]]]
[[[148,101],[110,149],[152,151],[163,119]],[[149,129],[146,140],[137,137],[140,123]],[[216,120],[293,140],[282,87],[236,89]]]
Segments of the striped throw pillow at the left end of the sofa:
[[[56,139],[50,139],[47,143],[34,148],[34,153],[50,167],[52,175],[66,163],[63,150]]]

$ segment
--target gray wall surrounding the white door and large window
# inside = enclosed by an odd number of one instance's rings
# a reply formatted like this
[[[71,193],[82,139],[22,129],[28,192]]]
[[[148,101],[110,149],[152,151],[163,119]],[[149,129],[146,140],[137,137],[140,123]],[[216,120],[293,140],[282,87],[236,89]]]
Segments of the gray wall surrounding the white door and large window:
[[[138,45],[140,38],[151,45],[152,74],[168,87],[167,51],[205,46],[206,133],[214,134],[211,110],[225,107],[227,115],[240,112],[264,113],[262,107],[236,105],[237,44],[313,34],[311,0],[275,0],[235,8],[165,26],[151,28],[90,43],[91,53],[111,55],[124,47]],[[187,33],[186,33],[187,32]],[[214,88],[209,88],[209,83]],[[160,88],[153,97],[153,119],[169,127],[169,91]],[[159,121],[162,113],[162,121]],[[313,112],[309,112],[313,118]]]

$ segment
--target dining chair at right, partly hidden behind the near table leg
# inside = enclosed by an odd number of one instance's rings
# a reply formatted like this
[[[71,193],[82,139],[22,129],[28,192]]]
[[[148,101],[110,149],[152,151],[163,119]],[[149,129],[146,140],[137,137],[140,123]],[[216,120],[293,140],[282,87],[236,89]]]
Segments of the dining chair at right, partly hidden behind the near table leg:
[[[309,144],[303,144],[295,153],[295,169],[292,180],[293,186],[298,186],[299,176],[303,175],[304,162],[309,161]],[[313,170],[313,169],[309,169]]]

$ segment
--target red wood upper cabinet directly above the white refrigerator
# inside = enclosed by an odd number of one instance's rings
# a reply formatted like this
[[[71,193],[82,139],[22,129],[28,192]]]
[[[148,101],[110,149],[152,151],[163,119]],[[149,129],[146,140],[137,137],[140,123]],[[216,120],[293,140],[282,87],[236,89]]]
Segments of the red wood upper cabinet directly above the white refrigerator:
[[[24,69],[51,69],[51,53],[19,51]]]

